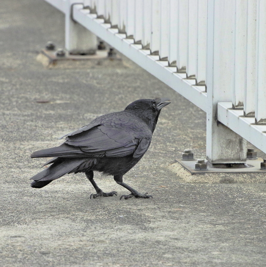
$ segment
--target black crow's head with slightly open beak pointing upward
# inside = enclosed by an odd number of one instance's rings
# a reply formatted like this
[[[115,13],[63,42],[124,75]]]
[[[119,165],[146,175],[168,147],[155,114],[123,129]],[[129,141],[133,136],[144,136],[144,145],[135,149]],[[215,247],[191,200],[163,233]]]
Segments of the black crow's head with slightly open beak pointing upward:
[[[144,120],[153,132],[161,109],[170,103],[171,100],[169,98],[139,99],[129,104],[125,110]]]

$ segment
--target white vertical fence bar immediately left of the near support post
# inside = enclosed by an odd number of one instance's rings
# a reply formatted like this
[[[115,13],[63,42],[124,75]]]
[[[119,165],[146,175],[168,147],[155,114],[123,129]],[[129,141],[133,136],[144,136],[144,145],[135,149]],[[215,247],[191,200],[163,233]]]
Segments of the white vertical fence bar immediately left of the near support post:
[[[207,1],[198,0],[197,84],[205,85],[207,57]]]

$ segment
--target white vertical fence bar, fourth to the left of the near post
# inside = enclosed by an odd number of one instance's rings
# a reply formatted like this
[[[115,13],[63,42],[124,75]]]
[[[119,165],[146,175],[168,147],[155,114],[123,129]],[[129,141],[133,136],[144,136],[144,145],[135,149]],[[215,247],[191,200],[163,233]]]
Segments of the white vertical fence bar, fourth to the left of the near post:
[[[178,30],[178,1],[170,0],[170,34],[169,56],[170,66],[176,66],[177,59],[177,30]],[[207,27],[206,27],[207,28]]]

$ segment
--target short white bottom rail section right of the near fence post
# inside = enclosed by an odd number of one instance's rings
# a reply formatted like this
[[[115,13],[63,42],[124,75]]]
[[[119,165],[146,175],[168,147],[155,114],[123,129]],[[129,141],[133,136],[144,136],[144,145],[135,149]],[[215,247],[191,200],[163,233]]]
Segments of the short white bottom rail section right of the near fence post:
[[[218,120],[266,153],[266,125],[255,125],[254,117],[244,117],[243,109],[232,109],[232,102],[218,103]]]

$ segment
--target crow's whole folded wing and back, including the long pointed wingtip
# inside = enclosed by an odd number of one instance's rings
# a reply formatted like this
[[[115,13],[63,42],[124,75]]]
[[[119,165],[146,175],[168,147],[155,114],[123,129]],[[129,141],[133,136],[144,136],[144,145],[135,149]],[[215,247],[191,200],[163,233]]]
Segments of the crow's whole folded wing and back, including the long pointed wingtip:
[[[138,158],[147,151],[151,137],[151,129],[144,121],[126,112],[116,112],[98,117],[67,134],[61,146],[35,151],[31,157],[124,157],[133,154]]]

